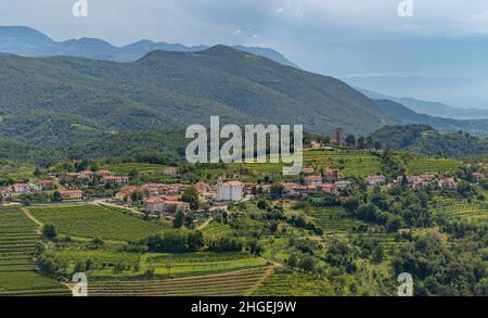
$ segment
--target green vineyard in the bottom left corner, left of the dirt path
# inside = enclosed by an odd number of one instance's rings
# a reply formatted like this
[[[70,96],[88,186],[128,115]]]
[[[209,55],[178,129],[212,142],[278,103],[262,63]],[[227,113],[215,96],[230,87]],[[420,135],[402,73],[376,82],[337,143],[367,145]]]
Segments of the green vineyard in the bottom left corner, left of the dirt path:
[[[36,272],[36,225],[18,207],[0,208],[0,295],[65,295],[62,284]]]

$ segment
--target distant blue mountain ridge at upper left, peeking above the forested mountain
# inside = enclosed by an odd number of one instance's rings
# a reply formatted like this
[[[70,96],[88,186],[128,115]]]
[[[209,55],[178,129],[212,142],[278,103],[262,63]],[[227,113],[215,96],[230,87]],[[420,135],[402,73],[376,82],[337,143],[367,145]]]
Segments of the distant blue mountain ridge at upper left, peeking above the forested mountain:
[[[271,49],[243,46],[236,46],[235,48],[244,52],[270,59],[283,65],[297,67],[281,53]],[[0,26],[0,52],[21,56],[41,58],[69,55],[104,61],[133,62],[149,52],[156,50],[197,52],[205,49],[208,49],[208,46],[185,47],[178,43],[154,42],[151,40],[140,40],[125,47],[114,47],[106,41],[92,38],[56,42],[40,31],[29,27]]]

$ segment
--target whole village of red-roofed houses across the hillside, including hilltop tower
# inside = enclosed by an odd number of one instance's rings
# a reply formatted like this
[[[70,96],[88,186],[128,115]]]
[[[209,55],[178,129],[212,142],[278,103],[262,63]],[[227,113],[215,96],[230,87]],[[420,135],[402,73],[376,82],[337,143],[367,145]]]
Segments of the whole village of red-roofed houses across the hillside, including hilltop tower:
[[[350,136],[344,137],[343,128],[337,128],[334,138],[326,142],[310,140],[306,144],[306,151],[308,153],[330,152],[331,154],[337,151],[347,151],[350,149]],[[381,145],[373,141],[352,140],[352,144],[358,142],[364,143],[362,148],[365,150],[377,154],[382,153]],[[128,174],[116,174],[108,169],[90,168],[86,163],[82,166],[85,169],[78,171],[76,168],[68,171],[48,169],[43,174],[46,178],[36,178],[30,182],[7,181],[7,185],[0,187],[2,203],[56,204],[98,200],[137,208],[142,213],[172,217],[176,212],[226,209],[229,202],[252,200],[256,195],[275,196],[277,193],[280,198],[303,200],[317,193],[347,198],[354,189],[362,186],[401,185],[411,187],[413,190],[428,187],[451,190],[458,188],[454,176],[445,171],[420,175],[407,175],[404,171],[398,171],[397,176],[377,174],[358,178],[357,176],[346,176],[338,167],[314,165],[304,167],[299,176],[287,180],[273,181],[272,178],[268,178],[243,181],[240,174],[233,174],[234,178],[229,174],[222,174],[213,182],[206,179],[182,182],[182,177],[188,171],[187,167],[165,166],[156,173],[166,176],[169,181],[141,183],[140,171],[137,169]],[[256,166],[259,165],[256,164]],[[486,178],[485,174],[473,171],[471,179],[473,182],[478,182]]]

